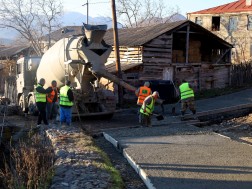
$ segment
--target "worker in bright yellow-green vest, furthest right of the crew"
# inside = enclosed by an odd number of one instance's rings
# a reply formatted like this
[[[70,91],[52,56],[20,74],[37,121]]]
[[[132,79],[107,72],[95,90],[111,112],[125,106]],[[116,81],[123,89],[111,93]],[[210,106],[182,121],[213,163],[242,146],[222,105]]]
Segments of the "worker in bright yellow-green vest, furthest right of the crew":
[[[194,91],[185,79],[182,80],[182,84],[179,86],[180,100],[181,100],[181,120],[184,120],[184,115],[187,107],[192,111],[194,118],[196,114],[195,102],[194,102]]]

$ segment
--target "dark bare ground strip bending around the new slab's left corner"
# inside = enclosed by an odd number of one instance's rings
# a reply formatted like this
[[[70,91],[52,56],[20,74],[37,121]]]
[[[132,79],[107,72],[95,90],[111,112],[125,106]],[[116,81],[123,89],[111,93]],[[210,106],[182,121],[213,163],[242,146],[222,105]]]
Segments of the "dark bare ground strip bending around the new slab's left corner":
[[[114,167],[119,170],[125,183],[125,189],[147,189],[142,179],[129,165],[126,158],[115,149],[101,134],[106,129],[120,129],[133,127],[137,124],[137,110],[128,109],[117,112],[112,119],[83,119],[81,127],[90,135],[94,141],[110,158]]]

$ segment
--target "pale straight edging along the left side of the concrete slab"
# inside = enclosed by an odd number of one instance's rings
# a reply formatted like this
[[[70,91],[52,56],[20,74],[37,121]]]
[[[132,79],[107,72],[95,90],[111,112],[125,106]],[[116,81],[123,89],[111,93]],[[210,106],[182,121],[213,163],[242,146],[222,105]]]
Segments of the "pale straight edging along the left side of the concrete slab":
[[[123,149],[119,142],[115,140],[113,137],[111,137],[109,134],[103,132],[104,138],[109,141],[114,147],[117,149]],[[122,151],[123,156],[127,159],[131,167],[136,171],[136,173],[140,176],[140,178],[143,180],[144,184],[147,186],[148,189],[156,189],[156,187],[153,186],[151,183],[151,180],[147,176],[147,174],[144,172],[143,169],[140,168],[140,166],[129,156],[129,154],[126,152],[125,149]]]

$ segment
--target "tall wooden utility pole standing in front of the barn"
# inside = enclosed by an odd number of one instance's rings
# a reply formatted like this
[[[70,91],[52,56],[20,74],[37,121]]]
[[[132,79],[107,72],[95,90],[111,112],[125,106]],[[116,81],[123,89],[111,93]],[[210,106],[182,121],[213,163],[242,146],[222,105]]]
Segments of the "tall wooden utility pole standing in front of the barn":
[[[122,79],[115,0],[111,0],[111,7],[112,7],[112,21],[113,21],[113,35],[114,35],[114,51],[116,58],[116,71],[118,78]],[[120,85],[118,85],[118,100],[119,100],[119,106],[121,107],[123,104],[123,89],[122,86]]]

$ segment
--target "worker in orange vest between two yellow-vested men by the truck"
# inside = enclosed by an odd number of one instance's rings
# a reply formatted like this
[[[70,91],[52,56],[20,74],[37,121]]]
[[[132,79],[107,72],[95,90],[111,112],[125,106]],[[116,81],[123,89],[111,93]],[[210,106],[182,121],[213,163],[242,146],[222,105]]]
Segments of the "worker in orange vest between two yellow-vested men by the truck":
[[[51,82],[52,92],[46,95],[46,116],[47,120],[55,119],[54,123],[56,123],[56,116],[58,112],[58,89],[57,89],[57,81],[53,80]]]

